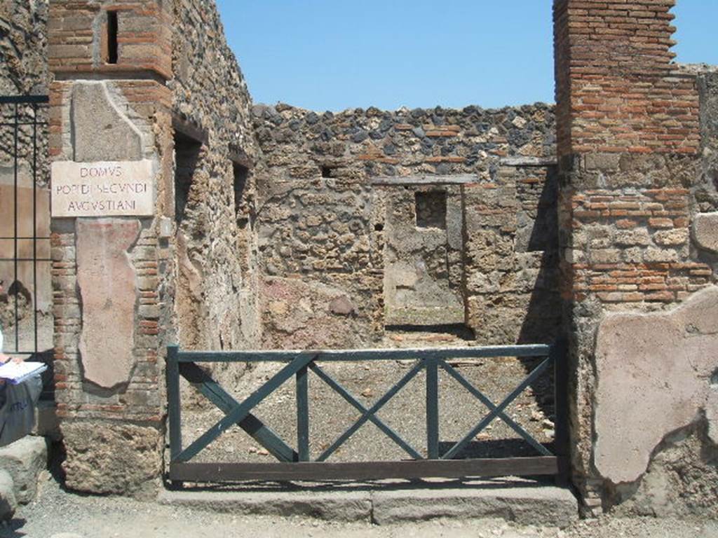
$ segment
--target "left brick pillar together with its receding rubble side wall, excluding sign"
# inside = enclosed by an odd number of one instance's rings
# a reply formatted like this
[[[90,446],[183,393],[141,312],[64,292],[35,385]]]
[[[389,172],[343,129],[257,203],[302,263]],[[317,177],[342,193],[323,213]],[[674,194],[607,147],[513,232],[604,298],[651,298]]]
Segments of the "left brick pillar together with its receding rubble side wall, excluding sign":
[[[238,349],[260,334],[251,101],[203,1],[57,1],[49,64],[52,158],[144,160],[154,174],[151,216],[52,222],[67,485],[149,494],[167,345]]]

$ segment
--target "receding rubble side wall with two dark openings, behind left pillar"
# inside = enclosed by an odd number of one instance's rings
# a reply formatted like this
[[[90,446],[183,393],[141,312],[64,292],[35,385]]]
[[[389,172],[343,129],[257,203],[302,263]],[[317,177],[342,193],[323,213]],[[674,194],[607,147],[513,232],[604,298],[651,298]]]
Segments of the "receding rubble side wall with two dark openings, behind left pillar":
[[[174,2],[173,29],[175,129],[204,138],[190,169],[182,177],[177,171],[166,192],[174,192],[172,207],[185,192],[182,208],[174,207],[177,341],[185,349],[251,347],[260,332],[253,197],[261,167],[251,98],[212,3]],[[236,176],[241,169],[248,171],[244,180]]]

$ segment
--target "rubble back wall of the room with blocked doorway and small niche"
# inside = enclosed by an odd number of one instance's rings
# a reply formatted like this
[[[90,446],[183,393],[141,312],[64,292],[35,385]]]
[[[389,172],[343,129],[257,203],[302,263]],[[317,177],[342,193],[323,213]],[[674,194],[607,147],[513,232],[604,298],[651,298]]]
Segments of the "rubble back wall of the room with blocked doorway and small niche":
[[[485,344],[554,339],[551,107],[253,111],[266,346],[456,323]]]

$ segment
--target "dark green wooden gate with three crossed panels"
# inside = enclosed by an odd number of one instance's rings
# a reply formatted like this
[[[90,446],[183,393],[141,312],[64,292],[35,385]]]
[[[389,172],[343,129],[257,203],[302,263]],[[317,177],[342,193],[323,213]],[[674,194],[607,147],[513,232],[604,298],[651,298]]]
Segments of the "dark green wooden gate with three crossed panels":
[[[497,404],[490,400],[460,374],[449,359],[490,359],[518,357],[540,359],[537,367]],[[529,344],[521,346],[482,346],[436,349],[366,349],[332,351],[182,351],[177,346],[167,349],[167,398],[169,413],[169,480],[174,482],[228,481],[292,481],[292,480],[367,480],[381,478],[464,478],[471,476],[535,476],[555,475],[564,478],[567,472],[567,420],[565,410],[565,368],[561,346]],[[415,361],[391,389],[370,407],[366,407],[345,387],[333,379],[320,363],[364,362],[379,360]],[[278,362],[284,367],[242,402],[238,402],[197,364],[209,362]],[[460,440],[439,450],[439,369],[444,370],[465,390],[488,409],[488,413]],[[556,423],[553,451],[528,433],[505,409],[538,377],[554,369],[554,405]],[[421,456],[377,413],[419,372],[426,372],[426,454]],[[312,372],[343,400],[360,412],[360,418],[311,461],[309,453],[309,385]],[[224,414],[187,447],[182,446],[182,408],[180,377],[208,398]],[[253,409],[284,382],[296,379],[297,448],[281,439],[271,428],[253,415]],[[535,457],[466,458],[462,450],[494,420],[501,420],[536,450]],[[327,463],[365,423],[371,422],[402,448],[410,459],[361,463]],[[213,443],[226,430],[238,425],[262,445],[279,463],[192,463],[198,453]]]

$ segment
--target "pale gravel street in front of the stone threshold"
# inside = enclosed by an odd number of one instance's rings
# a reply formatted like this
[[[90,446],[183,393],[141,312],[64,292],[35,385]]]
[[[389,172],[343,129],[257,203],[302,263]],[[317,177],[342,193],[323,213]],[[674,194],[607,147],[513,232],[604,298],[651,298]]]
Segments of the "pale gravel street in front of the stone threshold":
[[[70,533],[70,534],[62,534]],[[676,519],[602,519],[568,529],[517,527],[496,519],[437,519],[385,527],[304,518],[215,514],[152,502],[68,494],[45,478],[33,504],[20,509],[2,538],[717,538],[718,522]]]

